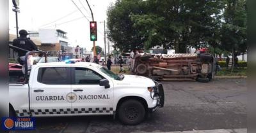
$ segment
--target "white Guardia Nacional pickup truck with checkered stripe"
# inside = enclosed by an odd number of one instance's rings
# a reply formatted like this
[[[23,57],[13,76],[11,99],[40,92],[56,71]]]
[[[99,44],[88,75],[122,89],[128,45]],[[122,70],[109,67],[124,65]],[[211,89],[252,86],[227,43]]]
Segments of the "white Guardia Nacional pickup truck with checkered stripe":
[[[10,76],[15,73],[19,72]],[[28,77],[23,83],[10,77],[12,116],[113,115],[124,124],[136,125],[164,106],[160,83],[118,75],[90,62],[38,63]]]

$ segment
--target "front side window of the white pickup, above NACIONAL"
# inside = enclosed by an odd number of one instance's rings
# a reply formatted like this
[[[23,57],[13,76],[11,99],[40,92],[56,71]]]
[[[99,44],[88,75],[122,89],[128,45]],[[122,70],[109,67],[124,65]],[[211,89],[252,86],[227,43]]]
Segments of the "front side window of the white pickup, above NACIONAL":
[[[99,85],[103,79],[100,74],[83,67],[76,67],[76,85]]]

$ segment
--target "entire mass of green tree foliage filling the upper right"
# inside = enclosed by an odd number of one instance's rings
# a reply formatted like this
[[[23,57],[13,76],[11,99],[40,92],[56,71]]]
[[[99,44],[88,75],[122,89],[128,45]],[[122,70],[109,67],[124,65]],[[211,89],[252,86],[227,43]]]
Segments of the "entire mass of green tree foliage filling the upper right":
[[[231,8],[235,2],[237,6]],[[236,44],[234,47],[245,50],[244,3],[245,0],[118,0],[108,9],[109,38],[125,52],[162,45],[175,48],[177,53],[186,53],[187,46],[203,45],[225,51]],[[230,41],[232,38],[236,41]]]

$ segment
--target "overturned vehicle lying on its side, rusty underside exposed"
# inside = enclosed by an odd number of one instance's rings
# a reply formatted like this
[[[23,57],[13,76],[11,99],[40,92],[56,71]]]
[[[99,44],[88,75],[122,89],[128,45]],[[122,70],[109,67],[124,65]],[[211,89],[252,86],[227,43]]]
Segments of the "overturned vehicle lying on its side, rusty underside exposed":
[[[131,74],[160,81],[209,82],[216,71],[216,59],[207,53],[140,53],[131,59]]]

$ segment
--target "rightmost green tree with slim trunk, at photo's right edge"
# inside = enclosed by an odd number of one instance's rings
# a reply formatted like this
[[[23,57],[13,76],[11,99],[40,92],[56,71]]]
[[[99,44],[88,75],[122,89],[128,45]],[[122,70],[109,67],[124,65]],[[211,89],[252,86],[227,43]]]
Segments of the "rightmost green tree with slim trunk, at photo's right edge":
[[[246,52],[246,1],[227,0],[223,12],[223,25],[221,27],[221,47],[232,53],[232,61],[237,55]],[[234,63],[232,64],[232,69]]]

